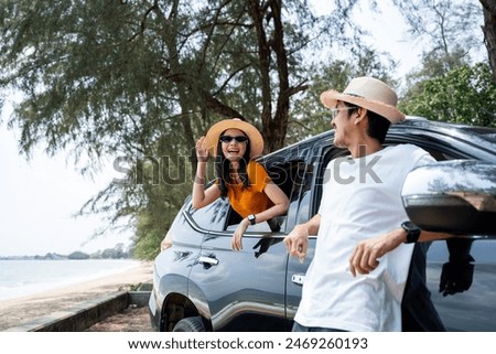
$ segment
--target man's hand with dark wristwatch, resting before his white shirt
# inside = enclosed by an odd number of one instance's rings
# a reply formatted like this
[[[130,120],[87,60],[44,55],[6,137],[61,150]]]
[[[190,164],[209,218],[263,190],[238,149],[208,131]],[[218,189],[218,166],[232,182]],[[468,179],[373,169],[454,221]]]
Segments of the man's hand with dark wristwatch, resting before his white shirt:
[[[379,258],[393,250],[406,239],[402,228],[393,229],[382,236],[365,239],[358,243],[349,257],[349,271],[355,277],[368,275],[379,265]]]

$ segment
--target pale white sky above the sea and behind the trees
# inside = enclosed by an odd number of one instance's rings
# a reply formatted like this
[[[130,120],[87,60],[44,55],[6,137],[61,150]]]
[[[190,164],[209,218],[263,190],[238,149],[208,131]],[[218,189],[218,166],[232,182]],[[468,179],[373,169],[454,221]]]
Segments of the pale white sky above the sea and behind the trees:
[[[331,1],[312,2],[319,11],[332,11]],[[385,3],[389,1],[381,6]],[[405,24],[396,10],[385,9],[384,17],[388,20],[367,14],[374,43],[399,60],[399,72],[407,73],[419,63],[416,53],[420,53],[420,49],[403,41]],[[112,178],[118,178],[111,164],[91,180],[82,176],[71,161],[66,162],[66,155],[44,154],[43,143],[26,161],[18,153],[20,132],[7,129],[11,109],[8,106],[0,124],[0,256],[94,253],[118,243],[130,245],[130,232],[108,233],[90,240],[95,229],[106,222],[98,215],[72,216]]]

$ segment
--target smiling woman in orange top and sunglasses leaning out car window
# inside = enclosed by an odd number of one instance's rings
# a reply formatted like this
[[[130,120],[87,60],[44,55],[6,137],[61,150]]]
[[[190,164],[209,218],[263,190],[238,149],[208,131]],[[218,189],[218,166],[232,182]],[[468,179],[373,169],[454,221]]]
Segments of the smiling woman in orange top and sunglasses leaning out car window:
[[[229,199],[231,207],[242,217],[233,235],[234,250],[242,249],[241,238],[249,225],[269,221],[288,211],[288,196],[271,181],[265,168],[254,160],[262,151],[261,133],[239,118],[215,124],[196,142],[198,164],[193,183],[193,207],[208,205],[219,196]],[[208,154],[216,158],[217,181],[205,190]]]

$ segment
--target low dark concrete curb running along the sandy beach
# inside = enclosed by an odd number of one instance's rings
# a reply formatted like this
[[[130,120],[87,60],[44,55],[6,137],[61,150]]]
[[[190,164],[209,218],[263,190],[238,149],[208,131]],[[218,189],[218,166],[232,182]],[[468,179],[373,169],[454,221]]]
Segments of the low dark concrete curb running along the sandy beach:
[[[82,332],[129,305],[148,304],[150,291],[118,291],[82,302],[67,310],[41,317],[4,332]]]

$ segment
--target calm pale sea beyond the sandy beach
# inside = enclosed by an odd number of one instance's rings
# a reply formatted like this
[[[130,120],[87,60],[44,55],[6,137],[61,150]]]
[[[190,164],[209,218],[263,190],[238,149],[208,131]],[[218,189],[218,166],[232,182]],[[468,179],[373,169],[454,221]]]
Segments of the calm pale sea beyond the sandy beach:
[[[140,264],[132,259],[0,260],[0,301],[111,276]]]

